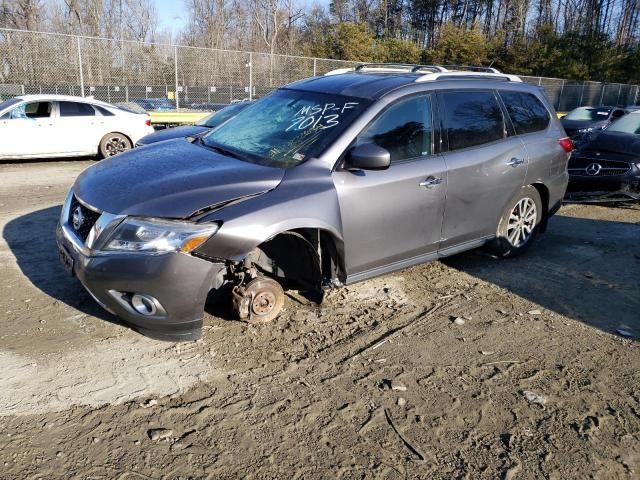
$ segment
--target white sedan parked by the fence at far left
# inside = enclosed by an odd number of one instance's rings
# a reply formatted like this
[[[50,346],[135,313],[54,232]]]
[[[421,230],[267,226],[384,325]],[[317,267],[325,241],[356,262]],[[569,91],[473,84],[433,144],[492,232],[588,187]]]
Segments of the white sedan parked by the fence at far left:
[[[90,98],[23,95],[0,103],[0,159],[111,157],[153,133],[147,114]]]

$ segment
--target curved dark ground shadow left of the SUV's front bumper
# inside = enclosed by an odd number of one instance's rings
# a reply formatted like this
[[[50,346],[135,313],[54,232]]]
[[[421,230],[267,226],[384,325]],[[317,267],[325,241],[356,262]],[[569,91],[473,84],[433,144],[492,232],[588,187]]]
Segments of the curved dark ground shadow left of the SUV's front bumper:
[[[103,310],[69,275],[58,259],[56,225],[62,206],[45,208],[11,220],[2,232],[16,258],[18,267],[29,281],[47,295],[102,320],[122,325]]]

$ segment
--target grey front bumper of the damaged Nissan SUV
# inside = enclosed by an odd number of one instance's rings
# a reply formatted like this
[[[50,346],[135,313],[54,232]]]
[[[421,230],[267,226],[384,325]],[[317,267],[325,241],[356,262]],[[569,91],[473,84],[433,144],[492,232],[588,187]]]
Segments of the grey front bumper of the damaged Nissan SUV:
[[[160,340],[200,337],[207,295],[224,281],[223,263],[179,252],[95,254],[64,224],[58,225],[56,240],[91,296],[134,329]],[[154,315],[138,313],[130,302],[136,293],[155,298],[162,308]]]

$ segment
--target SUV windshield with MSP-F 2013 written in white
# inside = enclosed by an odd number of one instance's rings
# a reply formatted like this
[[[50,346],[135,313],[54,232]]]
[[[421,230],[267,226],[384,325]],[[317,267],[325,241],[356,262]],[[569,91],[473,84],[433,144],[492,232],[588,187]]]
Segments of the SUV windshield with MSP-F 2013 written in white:
[[[277,90],[202,141],[243,160],[289,168],[319,155],[368,104],[356,97]]]

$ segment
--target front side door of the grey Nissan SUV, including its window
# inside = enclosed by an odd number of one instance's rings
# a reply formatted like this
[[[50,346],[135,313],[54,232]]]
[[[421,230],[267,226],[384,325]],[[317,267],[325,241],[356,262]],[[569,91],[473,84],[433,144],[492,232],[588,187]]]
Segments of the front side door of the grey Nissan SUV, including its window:
[[[386,148],[390,167],[334,172],[348,282],[437,252],[447,177],[443,158],[433,153],[432,133],[431,97],[400,99],[356,140]]]

